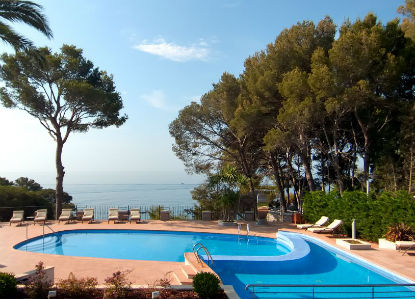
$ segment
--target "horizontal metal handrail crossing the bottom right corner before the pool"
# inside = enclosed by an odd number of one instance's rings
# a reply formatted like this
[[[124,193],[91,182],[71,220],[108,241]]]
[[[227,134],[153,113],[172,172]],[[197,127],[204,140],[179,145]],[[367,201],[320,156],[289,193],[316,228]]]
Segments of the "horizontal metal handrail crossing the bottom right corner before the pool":
[[[415,298],[415,284],[247,284],[253,298]]]

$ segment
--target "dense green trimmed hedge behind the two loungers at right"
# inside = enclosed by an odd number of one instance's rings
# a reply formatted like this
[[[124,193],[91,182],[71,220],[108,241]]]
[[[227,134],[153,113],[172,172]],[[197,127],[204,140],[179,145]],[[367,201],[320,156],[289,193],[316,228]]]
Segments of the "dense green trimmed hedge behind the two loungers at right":
[[[377,241],[384,237],[388,227],[405,223],[415,229],[415,200],[405,191],[370,193],[346,191],[309,192],[304,196],[304,218],[313,223],[321,216],[330,221],[341,219],[344,231],[351,236],[352,219],[356,220],[357,236],[364,240]]]

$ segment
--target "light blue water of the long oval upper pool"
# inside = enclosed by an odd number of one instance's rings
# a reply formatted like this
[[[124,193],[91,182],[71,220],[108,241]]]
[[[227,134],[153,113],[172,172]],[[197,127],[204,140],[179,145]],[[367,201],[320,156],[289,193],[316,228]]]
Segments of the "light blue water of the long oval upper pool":
[[[290,252],[275,239],[229,234],[144,230],[72,230],[29,239],[15,249],[68,256],[183,262],[201,242],[212,256],[280,256]],[[203,252],[200,251],[202,254]]]

